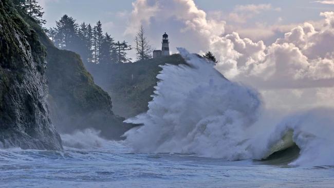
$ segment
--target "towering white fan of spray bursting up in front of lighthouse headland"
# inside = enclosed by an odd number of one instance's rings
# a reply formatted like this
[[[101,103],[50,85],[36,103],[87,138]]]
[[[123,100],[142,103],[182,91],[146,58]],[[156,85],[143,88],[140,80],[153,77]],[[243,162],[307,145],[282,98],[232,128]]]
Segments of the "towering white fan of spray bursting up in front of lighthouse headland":
[[[228,160],[250,158],[244,130],[258,118],[258,92],[222,76],[206,59],[179,48],[189,65],[164,65],[149,110],[126,122],[136,152],[196,153]]]

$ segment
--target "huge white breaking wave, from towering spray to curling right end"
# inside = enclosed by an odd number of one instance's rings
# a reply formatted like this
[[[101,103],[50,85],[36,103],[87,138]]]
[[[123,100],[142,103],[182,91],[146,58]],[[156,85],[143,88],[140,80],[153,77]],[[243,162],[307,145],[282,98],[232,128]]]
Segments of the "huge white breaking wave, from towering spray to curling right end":
[[[198,55],[178,50],[188,65],[162,66],[149,110],[126,120],[143,124],[125,133],[134,152],[261,160],[298,148],[297,155],[287,157],[291,165],[334,164],[333,109],[264,121],[268,112],[257,91],[227,80]]]

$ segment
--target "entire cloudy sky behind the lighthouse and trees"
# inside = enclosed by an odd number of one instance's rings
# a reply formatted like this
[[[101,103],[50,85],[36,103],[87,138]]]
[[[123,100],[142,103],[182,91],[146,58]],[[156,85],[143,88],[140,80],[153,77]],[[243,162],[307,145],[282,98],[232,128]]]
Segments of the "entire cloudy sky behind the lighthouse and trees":
[[[268,106],[334,106],[334,0],[39,2],[46,27],[68,14],[78,23],[101,21],[116,41],[132,44],[143,25],[155,49],[167,32],[172,53],[210,50],[218,71],[259,90]]]

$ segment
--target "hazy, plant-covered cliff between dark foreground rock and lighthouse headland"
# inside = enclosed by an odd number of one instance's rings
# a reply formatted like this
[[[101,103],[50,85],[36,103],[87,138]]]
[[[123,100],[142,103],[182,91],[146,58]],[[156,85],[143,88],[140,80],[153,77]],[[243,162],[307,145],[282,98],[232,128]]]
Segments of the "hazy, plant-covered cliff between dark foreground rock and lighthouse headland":
[[[26,22],[36,31],[46,47],[46,75],[49,86],[49,105],[52,123],[60,133],[94,128],[107,139],[122,139],[132,125],[114,115],[107,92],[94,83],[80,56],[60,50],[52,44],[42,28],[28,16]]]

